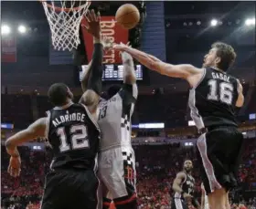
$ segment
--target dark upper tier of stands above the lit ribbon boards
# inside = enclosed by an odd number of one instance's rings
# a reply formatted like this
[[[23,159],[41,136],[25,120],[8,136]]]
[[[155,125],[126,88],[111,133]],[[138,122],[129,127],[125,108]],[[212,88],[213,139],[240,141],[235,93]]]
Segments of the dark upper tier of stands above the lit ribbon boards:
[[[251,89],[251,90],[249,90]],[[256,89],[244,86],[244,94],[251,92],[250,102],[243,114],[255,113]],[[78,101],[80,97],[75,97]],[[187,108],[188,92],[162,94],[155,91],[152,95],[139,95],[133,113],[134,122],[165,122],[165,127],[187,126],[189,110]],[[2,116],[4,122],[14,123],[16,128],[24,129],[45,112],[52,108],[47,96],[2,94]],[[248,116],[247,116],[248,118]]]

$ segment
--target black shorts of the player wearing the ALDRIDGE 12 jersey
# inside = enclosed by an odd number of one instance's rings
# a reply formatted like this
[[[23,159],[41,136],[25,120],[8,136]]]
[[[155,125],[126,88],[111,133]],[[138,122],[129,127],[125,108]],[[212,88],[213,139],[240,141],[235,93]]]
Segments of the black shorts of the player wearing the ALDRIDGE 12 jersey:
[[[41,209],[101,209],[99,185],[93,171],[58,169],[49,172]]]

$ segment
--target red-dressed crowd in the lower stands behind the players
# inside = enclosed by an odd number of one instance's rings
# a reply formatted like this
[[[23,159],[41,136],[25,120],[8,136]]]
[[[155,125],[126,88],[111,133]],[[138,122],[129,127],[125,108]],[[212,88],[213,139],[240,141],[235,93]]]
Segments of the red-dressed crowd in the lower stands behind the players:
[[[184,160],[191,159],[194,163],[193,176],[196,179],[195,196],[200,201],[200,178],[197,171],[197,157],[194,147],[181,147],[178,144],[137,145],[134,146],[137,170],[137,191],[140,209],[170,208],[173,193],[170,192],[176,172],[182,169]],[[23,146],[19,147],[22,156],[21,175],[13,178],[6,172],[9,156],[5,147],[1,146],[1,196],[2,208],[38,209],[43,194],[44,175],[48,172],[50,154],[34,151]],[[245,152],[240,164],[240,181],[247,190],[256,188],[256,140],[247,139]],[[254,195],[255,196],[255,195]],[[234,199],[239,204],[241,199]],[[255,209],[256,200],[246,199],[246,207]],[[240,202],[241,203],[241,202]],[[243,202],[242,202],[243,203]],[[254,208],[253,206],[254,205]],[[193,207],[191,207],[193,208]],[[239,207],[243,208],[242,206]]]

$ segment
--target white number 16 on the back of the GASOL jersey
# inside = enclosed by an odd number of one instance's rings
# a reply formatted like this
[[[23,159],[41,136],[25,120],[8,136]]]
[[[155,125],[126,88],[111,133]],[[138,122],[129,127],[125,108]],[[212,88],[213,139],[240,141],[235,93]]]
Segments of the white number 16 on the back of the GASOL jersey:
[[[221,101],[228,105],[232,103],[233,89],[234,89],[232,84],[227,82],[220,82],[218,85],[218,82],[216,79],[210,79],[208,80],[208,86],[209,86],[209,93],[208,93],[209,100]],[[219,95],[217,93],[218,89],[219,89]]]

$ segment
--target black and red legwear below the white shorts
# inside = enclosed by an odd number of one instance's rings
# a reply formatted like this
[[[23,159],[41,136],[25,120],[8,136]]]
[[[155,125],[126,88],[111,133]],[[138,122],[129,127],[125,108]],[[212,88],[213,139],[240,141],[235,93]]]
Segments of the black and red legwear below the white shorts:
[[[137,209],[137,194],[127,195],[113,200],[116,209]]]

